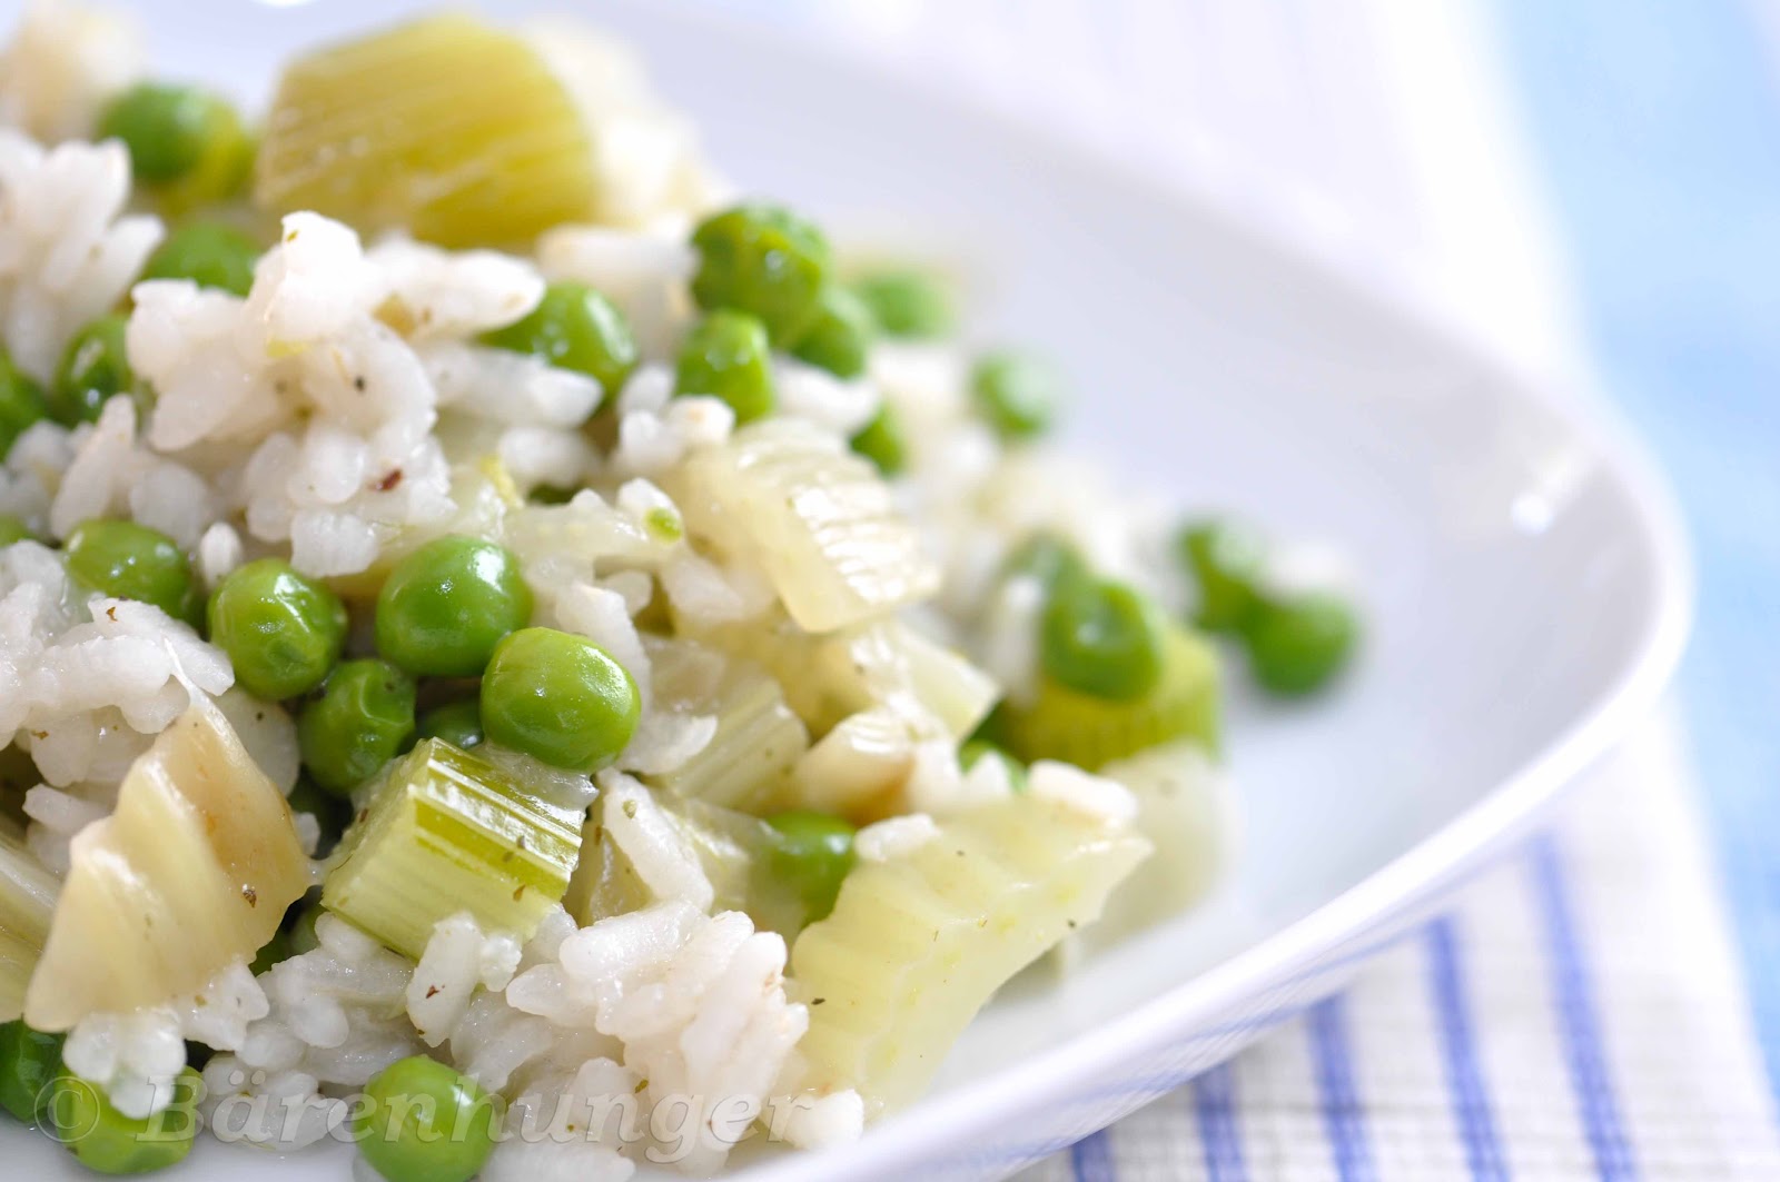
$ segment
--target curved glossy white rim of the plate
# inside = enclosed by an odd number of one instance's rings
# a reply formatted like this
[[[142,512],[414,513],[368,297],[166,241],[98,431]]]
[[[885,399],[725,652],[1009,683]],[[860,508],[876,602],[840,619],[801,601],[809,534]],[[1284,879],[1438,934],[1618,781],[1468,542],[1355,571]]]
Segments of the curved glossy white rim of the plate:
[[[630,11],[641,7],[634,0],[609,0],[609,4]],[[1394,283],[1380,272],[1340,267],[1335,258],[1317,253],[1285,219],[1237,208],[1210,185],[1194,183],[1191,178],[1164,180],[1111,151],[1032,126],[956,91],[922,87],[844,45],[838,50],[824,48],[805,37],[774,34],[728,14],[717,14],[712,21],[694,16],[682,0],[655,0],[648,18],[717,23],[726,36],[767,43],[781,55],[840,53],[847,57],[849,66],[872,75],[874,85],[940,100],[959,117],[984,125],[995,135],[1018,141],[1056,162],[1091,167],[1105,174],[1107,183],[1177,206],[1185,215],[1203,219],[1212,230],[1241,239],[1242,246],[1264,251],[1276,262],[1298,267],[1308,278],[1347,294],[1353,301],[1369,304],[1369,310],[1390,317],[1396,326],[1419,335],[1422,342],[1474,365],[1476,372],[1492,379],[1490,386],[1501,392],[1497,397],[1549,413],[1572,438],[1588,443],[1600,472],[1627,509],[1632,536],[1652,561],[1652,580],[1646,587],[1650,611],[1638,643],[1593,705],[1577,714],[1518,771],[1342,894],[1118,1018],[1072,1034],[945,1095],[924,1097],[870,1125],[860,1141],[749,1162],[723,1177],[737,1182],[849,1178],[863,1182],[904,1177],[910,1168],[931,1164],[936,1145],[981,1143],[983,1134],[1007,1129],[1022,1113],[1068,1100],[1075,1081],[1116,1075],[1121,1061],[1130,1061],[1171,1036],[1185,1034],[1207,1016],[1241,1006],[1244,999],[1267,988],[1314,977],[1315,972],[1310,970],[1331,951],[1419,903],[1438,899],[1440,892],[1479,870],[1492,853],[1533,828],[1581,773],[1600,760],[1639,717],[1655,708],[1680,662],[1691,630],[1696,595],[1693,552],[1679,502],[1648,447],[1584,372],[1563,376],[1531,372],[1511,358],[1490,351],[1474,333],[1445,315],[1444,308],[1417,301],[1412,285]],[[1381,940],[1376,951],[1399,938],[1401,933],[1394,933]],[[1367,958],[1372,952],[1369,949]],[[1330,984],[1333,988],[1339,983]],[[1235,1047],[1232,1054],[1234,1050]],[[1088,1130],[1079,1136],[1088,1136]],[[1079,1137],[1047,1143],[1045,1148],[1061,1150],[1073,1139]],[[1006,1170],[1022,1162],[1009,1159]]]

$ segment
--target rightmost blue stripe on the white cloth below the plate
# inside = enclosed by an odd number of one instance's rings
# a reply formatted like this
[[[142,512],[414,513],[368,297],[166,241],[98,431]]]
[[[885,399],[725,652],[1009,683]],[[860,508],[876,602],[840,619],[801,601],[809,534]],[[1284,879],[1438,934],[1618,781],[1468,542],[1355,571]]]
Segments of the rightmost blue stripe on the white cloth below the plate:
[[[1595,986],[1588,976],[1582,942],[1577,936],[1570,890],[1565,881],[1563,853],[1550,833],[1533,838],[1529,851],[1540,919],[1545,924],[1545,956],[1552,974],[1552,1006],[1563,1038],[1570,1086],[1582,1114],[1582,1132],[1595,1154],[1595,1173],[1604,1182],[1638,1177],[1632,1146],[1620,1123],[1620,1105],[1613,1091],[1607,1052],[1600,1041],[1595,1013]]]

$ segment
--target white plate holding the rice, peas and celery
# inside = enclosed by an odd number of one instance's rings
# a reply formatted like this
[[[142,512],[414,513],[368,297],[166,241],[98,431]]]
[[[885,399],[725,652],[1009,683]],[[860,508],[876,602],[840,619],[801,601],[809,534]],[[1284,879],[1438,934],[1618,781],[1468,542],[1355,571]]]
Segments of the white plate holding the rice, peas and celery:
[[[155,5],[157,64],[258,94],[290,46],[415,7]],[[1112,1121],[1339,988],[1652,703],[1686,632],[1687,559],[1600,408],[1207,203],[856,62],[660,5],[595,12],[646,48],[735,178],[831,224],[961,246],[993,278],[984,331],[1075,370],[1084,447],[1182,506],[1339,543],[1374,619],[1340,696],[1237,703],[1246,838],[1219,899],[997,1002],[933,1095],[860,1145],[744,1177],[997,1177]],[[0,1157],[12,1177],[69,1170],[16,1129]],[[176,1177],[344,1168],[203,1145]]]

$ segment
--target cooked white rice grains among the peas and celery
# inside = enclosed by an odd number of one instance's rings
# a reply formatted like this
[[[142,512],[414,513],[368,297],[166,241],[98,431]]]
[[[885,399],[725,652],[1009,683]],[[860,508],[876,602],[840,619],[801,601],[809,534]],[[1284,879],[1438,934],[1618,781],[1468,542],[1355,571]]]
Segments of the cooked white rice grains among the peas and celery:
[[[132,287],[162,224],[130,212],[125,150],[82,139],[100,101],[137,75],[126,32],[34,5],[0,61],[0,340],[48,379],[71,335],[128,297],[128,360],[155,393],[146,420],[119,395],[94,424],[25,431],[0,463],[0,513],[52,539],[96,516],[150,525],[194,555],[206,589],[262,555],[363,586],[354,580],[429,538],[495,538],[523,566],[534,623],[598,643],[643,700],[634,739],[596,785],[523,771],[568,808],[602,797],[603,831],[651,906],[586,927],[555,910],[527,942],[461,913],[436,926],[418,963],[322,913],[319,947],[256,979],[233,965],[196,997],[93,1015],[73,1031],[68,1066],[125,1114],[169,1102],[153,1084],[183,1066],[190,1038],[219,1052],[203,1070],[217,1136],[281,1152],[338,1134],[344,1097],[390,1063],[443,1057],[513,1100],[518,1136],[495,1152],[490,1182],[616,1182],[641,1161],[710,1173],[756,1125],[822,1146],[865,1121],[858,1093],[805,1084],[796,1047],[810,1016],[787,997],[785,940],[719,910],[700,856],[639,780],[684,767],[717,733],[712,712],[660,684],[651,655],[668,644],[684,669],[710,652],[655,639],[639,616],[664,612],[684,636],[785,619],[773,571],[694,545],[684,507],[705,506],[666,491],[684,488],[691,457],[735,438],[724,402],[673,397],[669,365],[696,315],[689,217],[721,185],[628,53],[561,28],[532,36],[600,112],[609,224],[562,226],[536,256],[511,256],[400,237],[367,244],[328,217],[292,214],[246,297],[180,279]],[[628,317],[644,363],[621,390],[479,344],[559,278],[600,287]],[[1022,532],[1057,530],[1180,607],[1184,591],[1157,557],[1162,520],[1050,452],[1009,457],[972,415],[952,345],[883,345],[853,381],[778,356],[774,381],[781,417],[828,440],[847,440],[885,404],[901,413],[911,456],[895,504],[945,575],[931,630],[956,639],[958,621],[972,621],[979,664],[1013,700],[1036,676],[1043,596],[1034,580],[1006,582],[997,598],[991,587]],[[584,431],[605,406],[609,438]],[[566,504],[520,500],[584,484]],[[68,870],[73,835],[110,814],[132,760],[192,694],[214,698],[260,769],[292,792],[290,716],[233,680],[228,657],[190,627],[84,593],[52,548],[0,550],[0,739],[28,751],[43,780],[23,808],[28,849],[50,870]],[[815,803],[892,794],[908,815],[862,830],[856,844],[883,862],[933,840],[936,819],[1013,790],[1000,760],[965,773],[958,739],[917,694],[885,692],[783,758]],[[1129,794],[1066,765],[1034,765],[1031,790],[1130,819]],[[303,814],[297,828],[313,854],[317,819]],[[651,1123],[676,1104],[678,1127]],[[614,1105],[637,1109],[637,1129],[602,1130],[598,1113]]]

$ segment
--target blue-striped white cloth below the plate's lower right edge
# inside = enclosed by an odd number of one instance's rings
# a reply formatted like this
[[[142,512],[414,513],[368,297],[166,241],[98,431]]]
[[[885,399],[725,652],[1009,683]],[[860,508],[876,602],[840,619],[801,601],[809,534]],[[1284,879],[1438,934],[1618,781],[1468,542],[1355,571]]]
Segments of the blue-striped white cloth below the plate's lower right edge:
[[[1022,1180],[1780,1178],[1677,730],[1346,993]]]

